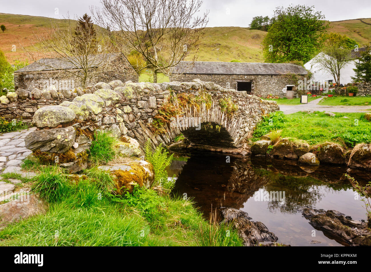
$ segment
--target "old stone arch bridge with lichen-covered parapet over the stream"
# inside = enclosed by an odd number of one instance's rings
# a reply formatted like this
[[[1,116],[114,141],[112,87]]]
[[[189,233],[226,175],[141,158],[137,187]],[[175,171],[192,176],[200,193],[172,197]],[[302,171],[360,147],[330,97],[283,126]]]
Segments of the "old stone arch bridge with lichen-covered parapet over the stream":
[[[89,135],[84,131],[96,129],[125,134],[142,147],[147,140],[153,146],[169,145],[183,133],[198,145],[238,148],[263,115],[279,110],[275,101],[200,80],[160,84],[114,80],[74,92],[79,95],[72,101],[36,110],[32,122],[38,130],[26,138],[29,149],[66,152],[76,142],[83,144],[81,134]]]

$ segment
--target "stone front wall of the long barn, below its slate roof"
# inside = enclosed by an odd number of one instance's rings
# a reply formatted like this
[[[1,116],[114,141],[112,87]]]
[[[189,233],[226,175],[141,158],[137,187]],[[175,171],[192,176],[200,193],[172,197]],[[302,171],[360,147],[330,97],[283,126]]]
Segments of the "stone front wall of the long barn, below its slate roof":
[[[171,79],[178,81],[192,81],[199,78],[202,81],[211,81],[222,87],[236,90],[237,81],[253,82],[252,94],[266,97],[269,94],[286,97],[286,85],[295,85],[303,80],[303,75],[221,75],[221,74],[182,74]],[[296,94],[294,88],[294,95]]]

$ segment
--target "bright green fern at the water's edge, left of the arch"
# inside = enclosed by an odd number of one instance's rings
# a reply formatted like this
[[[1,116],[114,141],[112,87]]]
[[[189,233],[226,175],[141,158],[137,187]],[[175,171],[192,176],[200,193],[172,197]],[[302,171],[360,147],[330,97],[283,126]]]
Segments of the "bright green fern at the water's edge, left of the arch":
[[[150,141],[145,143],[144,153],[145,159],[153,165],[155,171],[154,185],[161,186],[165,191],[171,191],[175,181],[174,178],[168,180],[165,168],[171,164],[173,154],[168,156],[169,153],[165,151],[161,144],[156,147],[155,151],[152,151]]]

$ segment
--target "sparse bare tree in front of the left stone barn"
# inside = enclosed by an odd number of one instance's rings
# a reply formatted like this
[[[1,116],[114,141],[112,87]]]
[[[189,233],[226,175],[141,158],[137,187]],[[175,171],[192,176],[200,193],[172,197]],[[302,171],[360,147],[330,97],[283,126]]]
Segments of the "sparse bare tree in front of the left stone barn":
[[[107,32],[96,26],[82,31],[81,24],[76,26],[68,17],[51,21],[50,28],[38,29],[31,48],[21,46],[43,69],[52,70],[54,76],[74,78],[84,87],[102,73],[127,72],[127,62],[118,60],[121,52],[114,53]]]

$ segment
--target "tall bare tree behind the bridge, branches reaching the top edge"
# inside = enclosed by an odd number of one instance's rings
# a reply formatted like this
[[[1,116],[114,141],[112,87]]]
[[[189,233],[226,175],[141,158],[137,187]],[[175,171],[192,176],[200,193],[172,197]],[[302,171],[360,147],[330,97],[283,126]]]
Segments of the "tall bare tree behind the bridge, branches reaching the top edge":
[[[101,0],[102,9],[91,7],[98,24],[110,27],[116,40],[144,59],[144,67],[170,75],[188,54],[196,51],[197,41],[208,22],[209,12],[196,16],[201,0]],[[196,56],[191,58],[194,62]]]

